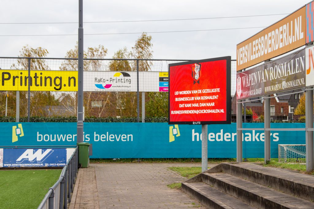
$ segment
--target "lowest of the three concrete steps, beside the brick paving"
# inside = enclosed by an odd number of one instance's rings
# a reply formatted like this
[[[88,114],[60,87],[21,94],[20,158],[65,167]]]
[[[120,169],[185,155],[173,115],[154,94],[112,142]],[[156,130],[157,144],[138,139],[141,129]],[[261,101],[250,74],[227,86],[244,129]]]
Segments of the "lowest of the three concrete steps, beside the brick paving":
[[[203,182],[182,183],[182,190],[208,208],[246,209],[255,208]],[[255,208],[256,209],[256,208]]]

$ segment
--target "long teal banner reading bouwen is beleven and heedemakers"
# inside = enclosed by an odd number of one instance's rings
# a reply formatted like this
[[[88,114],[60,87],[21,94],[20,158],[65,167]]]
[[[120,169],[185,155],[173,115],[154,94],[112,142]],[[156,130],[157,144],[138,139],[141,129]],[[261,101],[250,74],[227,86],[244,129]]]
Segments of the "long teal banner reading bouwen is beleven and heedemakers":
[[[243,128],[263,128],[243,123]],[[1,146],[75,145],[76,123],[0,123]],[[305,128],[305,123],[271,123],[271,128]],[[11,131],[12,130],[12,131]],[[201,125],[84,123],[90,158],[201,158]],[[305,131],[271,131],[271,157],[278,144],[305,144]],[[243,131],[243,157],[264,157],[264,132]],[[208,125],[208,158],[236,158],[236,123]]]

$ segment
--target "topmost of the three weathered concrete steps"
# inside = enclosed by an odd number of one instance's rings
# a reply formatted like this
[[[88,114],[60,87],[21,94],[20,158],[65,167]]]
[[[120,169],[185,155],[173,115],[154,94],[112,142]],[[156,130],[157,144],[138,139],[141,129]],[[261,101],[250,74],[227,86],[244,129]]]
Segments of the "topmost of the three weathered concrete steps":
[[[225,172],[284,193],[314,201],[314,176],[252,163],[221,163],[207,173]]]

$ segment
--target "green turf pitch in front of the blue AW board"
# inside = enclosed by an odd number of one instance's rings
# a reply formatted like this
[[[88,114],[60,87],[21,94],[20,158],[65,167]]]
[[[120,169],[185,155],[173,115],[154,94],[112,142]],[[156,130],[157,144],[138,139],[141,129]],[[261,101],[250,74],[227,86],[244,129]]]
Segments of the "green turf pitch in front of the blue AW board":
[[[1,208],[37,208],[61,169],[0,170]]]

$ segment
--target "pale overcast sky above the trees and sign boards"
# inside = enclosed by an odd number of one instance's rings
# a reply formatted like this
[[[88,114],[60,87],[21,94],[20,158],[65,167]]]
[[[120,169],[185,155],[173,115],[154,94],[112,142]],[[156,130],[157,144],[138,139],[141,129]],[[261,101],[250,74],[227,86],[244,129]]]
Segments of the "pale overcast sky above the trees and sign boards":
[[[83,2],[83,21],[129,21],[212,18],[292,13],[309,0],[263,1],[97,1]],[[84,23],[84,34],[134,33],[181,30],[267,27],[286,15],[203,20]],[[78,22],[78,1],[2,1],[1,23]],[[0,24],[0,35],[77,34],[78,24]],[[236,44],[262,28],[177,33],[152,33],[155,59],[206,59],[230,55],[236,59]],[[85,35],[84,49],[99,44],[107,58],[127,47],[131,50],[140,34]],[[17,56],[20,49],[44,47],[48,57],[65,57],[78,39],[73,36],[0,36],[0,56]]]

